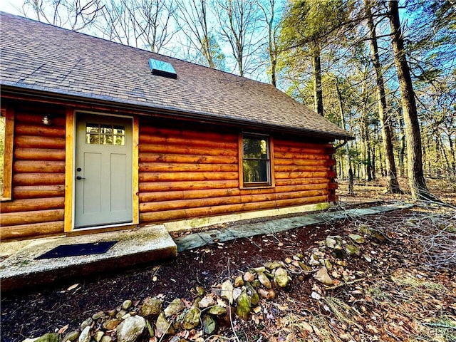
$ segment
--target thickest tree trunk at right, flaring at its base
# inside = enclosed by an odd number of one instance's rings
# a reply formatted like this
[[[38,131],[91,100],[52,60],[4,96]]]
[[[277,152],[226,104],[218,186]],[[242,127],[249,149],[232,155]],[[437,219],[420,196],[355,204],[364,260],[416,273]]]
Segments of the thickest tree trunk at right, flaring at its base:
[[[390,10],[391,43],[398,72],[400,97],[404,113],[405,136],[407,138],[408,181],[413,199],[437,200],[427,190],[423,174],[423,155],[421,150],[420,124],[415,103],[412,78],[407,59],[402,30],[400,28],[398,1],[388,1]]]

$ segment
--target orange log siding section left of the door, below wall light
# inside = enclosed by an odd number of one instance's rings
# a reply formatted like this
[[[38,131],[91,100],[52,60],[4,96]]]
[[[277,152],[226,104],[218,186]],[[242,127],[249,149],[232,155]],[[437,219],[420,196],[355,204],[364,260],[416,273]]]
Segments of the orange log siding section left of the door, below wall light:
[[[65,112],[15,108],[13,200],[0,203],[1,239],[63,233]],[[43,125],[43,115],[52,124]]]

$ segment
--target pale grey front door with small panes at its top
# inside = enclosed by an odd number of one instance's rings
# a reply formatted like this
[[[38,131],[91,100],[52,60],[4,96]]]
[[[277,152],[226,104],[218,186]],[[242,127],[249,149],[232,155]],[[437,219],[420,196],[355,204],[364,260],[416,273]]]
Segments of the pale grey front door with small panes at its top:
[[[132,119],[76,117],[75,228],[133,222]]]

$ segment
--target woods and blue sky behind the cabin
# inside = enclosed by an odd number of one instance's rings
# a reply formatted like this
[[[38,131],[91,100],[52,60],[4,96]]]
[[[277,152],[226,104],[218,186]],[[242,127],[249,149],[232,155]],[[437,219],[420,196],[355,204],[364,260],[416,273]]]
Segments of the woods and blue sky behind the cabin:
[[[356,140],[338,175],[456,178],[455,0],[26,0],[19,13],[269,82]]]

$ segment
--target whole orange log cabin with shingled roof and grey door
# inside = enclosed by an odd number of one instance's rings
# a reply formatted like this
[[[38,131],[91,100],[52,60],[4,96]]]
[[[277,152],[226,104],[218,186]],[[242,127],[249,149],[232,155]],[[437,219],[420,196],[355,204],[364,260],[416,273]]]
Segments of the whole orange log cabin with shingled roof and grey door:
[[[1,239],[336,200],[349,133],[266,83],[1,14]]]

